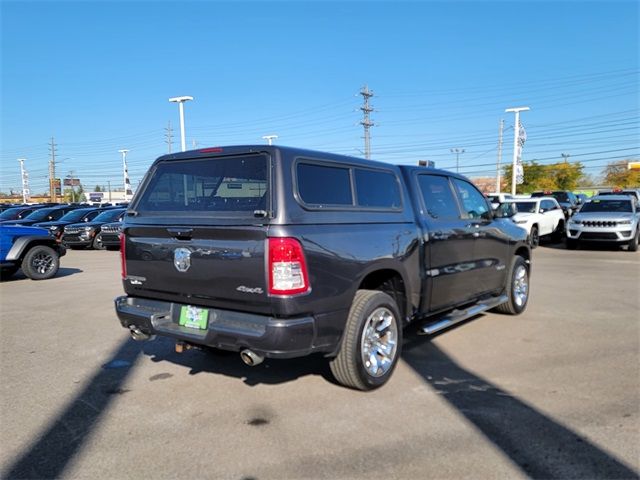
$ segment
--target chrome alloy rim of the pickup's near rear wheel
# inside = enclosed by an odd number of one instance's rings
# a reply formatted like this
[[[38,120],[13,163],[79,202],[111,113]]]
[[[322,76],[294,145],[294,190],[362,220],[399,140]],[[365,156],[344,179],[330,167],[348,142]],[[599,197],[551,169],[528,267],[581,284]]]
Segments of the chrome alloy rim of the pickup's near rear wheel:
[[[365,370],[372,377],[381,377],[393,366],[398,350],[398,322],[385,307],[373,311],[364,325],[360,355]]]

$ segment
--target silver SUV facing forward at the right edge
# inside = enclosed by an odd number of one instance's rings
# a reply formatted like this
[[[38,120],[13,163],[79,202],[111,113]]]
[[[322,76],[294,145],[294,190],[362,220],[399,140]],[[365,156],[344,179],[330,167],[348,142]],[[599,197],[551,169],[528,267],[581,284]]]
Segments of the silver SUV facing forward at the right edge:
[[[638,200],[628,195],[597,196],[585,203],[567,222],[567,248],[580,242],[608,242],[638,250],[640,237]]]

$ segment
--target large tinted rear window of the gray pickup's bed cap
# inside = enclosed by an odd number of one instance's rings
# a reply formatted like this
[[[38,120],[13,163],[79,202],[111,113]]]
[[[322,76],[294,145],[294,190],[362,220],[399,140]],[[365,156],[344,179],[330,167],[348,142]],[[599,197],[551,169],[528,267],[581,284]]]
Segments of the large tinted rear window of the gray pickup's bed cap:
[[[152,172],[138,212],[250,212],[265,210],[264,155],[166,161]]]

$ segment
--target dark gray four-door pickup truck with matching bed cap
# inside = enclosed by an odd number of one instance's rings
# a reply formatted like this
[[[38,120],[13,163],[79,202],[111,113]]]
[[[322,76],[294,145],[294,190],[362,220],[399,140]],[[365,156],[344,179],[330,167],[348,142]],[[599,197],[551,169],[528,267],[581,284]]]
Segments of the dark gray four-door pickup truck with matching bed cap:
[[[124,219],[136,340],[265,357],[321,352],[341,384],[384,384],[403,328],[425,334],[529,298],[526,232],[466,178],[276,146],[158,158]]]

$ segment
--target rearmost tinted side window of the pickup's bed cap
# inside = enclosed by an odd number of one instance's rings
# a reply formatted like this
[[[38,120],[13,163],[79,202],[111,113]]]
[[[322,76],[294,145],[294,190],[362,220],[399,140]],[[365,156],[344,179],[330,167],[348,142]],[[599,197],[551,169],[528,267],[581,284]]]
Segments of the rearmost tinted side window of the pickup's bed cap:
[[[348,168],[299,163],[297,180],[307,205],[353,205]]]

